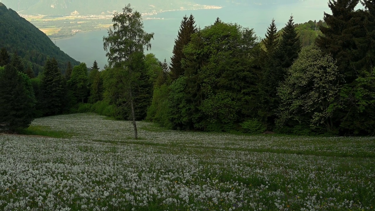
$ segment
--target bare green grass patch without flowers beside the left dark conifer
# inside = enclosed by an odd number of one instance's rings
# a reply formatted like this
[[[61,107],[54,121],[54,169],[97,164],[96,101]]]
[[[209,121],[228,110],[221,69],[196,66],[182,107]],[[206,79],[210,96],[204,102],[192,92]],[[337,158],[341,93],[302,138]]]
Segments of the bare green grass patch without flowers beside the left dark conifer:
[[[72,133],[67,133],[65,131],[52,130],[48,126],[30,125],[30,127],[17,131],[21,135],[34,135],[34,136],[48,136],[58,139],[66,139],[74,136]]]

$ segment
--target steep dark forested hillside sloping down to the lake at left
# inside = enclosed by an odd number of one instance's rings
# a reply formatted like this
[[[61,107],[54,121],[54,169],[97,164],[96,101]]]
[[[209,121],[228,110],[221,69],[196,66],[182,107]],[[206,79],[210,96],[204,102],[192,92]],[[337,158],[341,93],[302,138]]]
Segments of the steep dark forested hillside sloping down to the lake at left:
[[[63,71],[68,61],[73,65],[79,64],[61,51],[45,33],[0,3],[0,48],[2,47],[10,54],[17,52],[24,66],[31,66],[35,75],[42,70],[47,57],[54,57]]]

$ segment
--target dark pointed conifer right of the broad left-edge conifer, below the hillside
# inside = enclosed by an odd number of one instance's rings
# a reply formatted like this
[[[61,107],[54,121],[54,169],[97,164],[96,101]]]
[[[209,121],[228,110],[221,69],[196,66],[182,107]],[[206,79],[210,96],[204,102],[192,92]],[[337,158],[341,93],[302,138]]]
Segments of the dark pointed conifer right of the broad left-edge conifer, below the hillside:
[[[62,112],[62,99],[64,97],[62,77],[56,59],[48,59],[40,81],[41,105],[43,105],[45,116],[57,115]]]

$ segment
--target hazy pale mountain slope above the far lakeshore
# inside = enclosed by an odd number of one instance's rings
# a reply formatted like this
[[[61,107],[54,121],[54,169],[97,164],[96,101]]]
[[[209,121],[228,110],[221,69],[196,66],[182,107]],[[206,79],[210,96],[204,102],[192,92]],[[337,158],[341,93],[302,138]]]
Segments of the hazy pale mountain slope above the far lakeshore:
[[[192,7],[193,0],[1,0],[9,8],[22,14],[65,15],[77,11],[79,14],[108,14],[121,11],[131,4],[138,12]]]

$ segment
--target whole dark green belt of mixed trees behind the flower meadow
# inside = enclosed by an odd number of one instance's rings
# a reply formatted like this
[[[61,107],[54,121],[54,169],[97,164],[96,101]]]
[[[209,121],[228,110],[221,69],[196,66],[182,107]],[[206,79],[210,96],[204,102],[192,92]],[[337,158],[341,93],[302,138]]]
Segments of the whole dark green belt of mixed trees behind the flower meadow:
[[[183,17],[170,64],[144,54],[153,33],[144,32],[128,5],[104,37],[105,69],[70,64],[62,75],[50,56],[42,74],[31,78],[17,54],[9,59],[2,51],[1,84],[13,87],[0,89],[0,98],[12,93],[0,99],[0,122],[26,127],[32,118],[20,119],[21,111],[33,118],[95,112],[132,120],[135,133],[136,121],[146,120],[173,130],[374,135],[375,1],[364,0],[365,9],[355,11],[359,3],[330,1],[332,14],[318,22],[295,24],[291,16],[276,26],[270,20],[262,40],[220,18],[199,29],[193,15]],[[21,96],[24,109],[10,117]]]

